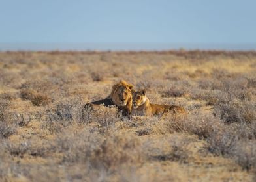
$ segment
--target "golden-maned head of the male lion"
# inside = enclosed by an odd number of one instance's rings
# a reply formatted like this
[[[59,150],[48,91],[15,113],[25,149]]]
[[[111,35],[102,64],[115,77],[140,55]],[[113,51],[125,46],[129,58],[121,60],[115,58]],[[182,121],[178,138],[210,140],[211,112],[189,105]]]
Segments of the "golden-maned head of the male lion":
[[[131,104],[133,97],[132,90],[133,85],[121,80],[120,83],[113,85],[110,97],[114,104],[124,107],[127,104]]]

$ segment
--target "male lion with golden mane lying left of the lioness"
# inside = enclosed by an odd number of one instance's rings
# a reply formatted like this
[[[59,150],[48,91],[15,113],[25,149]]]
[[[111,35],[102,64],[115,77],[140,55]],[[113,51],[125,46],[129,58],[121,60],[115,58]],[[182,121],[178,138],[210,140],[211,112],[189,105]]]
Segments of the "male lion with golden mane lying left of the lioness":
[[[124,116],[129,116],[133,103],[132,90],[133,85],[127,83],[125,80],[121,80],[119,83],[113,85],[110,96],[99,101],[87,103],[84,106],[84,110],[88,108],[91,110],[97,109],[101,105],[105,107],[117,106],[119,112],[122,112]]]

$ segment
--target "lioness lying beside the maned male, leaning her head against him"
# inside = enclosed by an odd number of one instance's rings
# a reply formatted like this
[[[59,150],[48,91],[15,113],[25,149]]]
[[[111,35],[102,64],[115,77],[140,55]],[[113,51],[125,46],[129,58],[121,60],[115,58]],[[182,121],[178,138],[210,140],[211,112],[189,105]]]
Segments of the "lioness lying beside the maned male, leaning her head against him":
[[[150,103],[150,99],[146,96],[146,90],[139,90],[133,92],[133,107],[132,115],[138,116],[152,116],[161,115],[165,112],[172,112],[174,114],[185,114],[186,111],[183,107],[177,105],[159,105]]]

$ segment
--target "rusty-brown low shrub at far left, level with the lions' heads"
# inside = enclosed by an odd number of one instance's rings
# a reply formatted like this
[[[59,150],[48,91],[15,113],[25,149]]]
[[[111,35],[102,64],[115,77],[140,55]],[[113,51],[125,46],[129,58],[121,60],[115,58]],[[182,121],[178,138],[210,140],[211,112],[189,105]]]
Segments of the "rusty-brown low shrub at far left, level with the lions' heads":
[[[32,89],[24,89],[21,92],[21,98],[27,99],[33,103],[33,105],[48,105],[52,102],[52,99],[49,98],[46,94],[37,92]]]

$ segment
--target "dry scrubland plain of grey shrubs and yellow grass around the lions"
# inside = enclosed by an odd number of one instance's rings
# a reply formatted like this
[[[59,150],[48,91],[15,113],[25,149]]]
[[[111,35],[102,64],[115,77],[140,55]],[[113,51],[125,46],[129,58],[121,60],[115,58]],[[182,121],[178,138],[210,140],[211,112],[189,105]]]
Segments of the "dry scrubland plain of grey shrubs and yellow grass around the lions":
[[[125,79],[188,114],[81,112]],[[255,181],[256,53],[0,53],[0,181]]]

